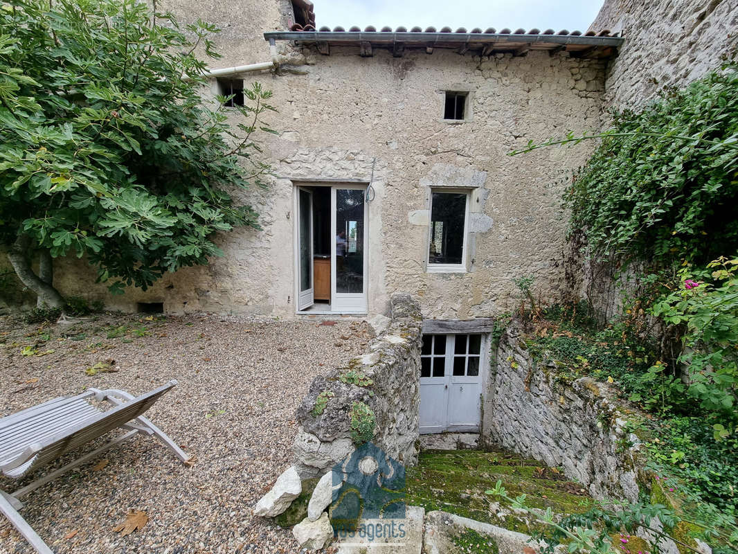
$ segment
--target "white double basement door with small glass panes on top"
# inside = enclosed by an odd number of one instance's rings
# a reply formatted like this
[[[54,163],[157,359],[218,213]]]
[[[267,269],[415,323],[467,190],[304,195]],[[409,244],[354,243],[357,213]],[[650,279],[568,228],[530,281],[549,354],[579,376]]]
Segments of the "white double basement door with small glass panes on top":
[[[420,432],[479,431],[482,335],[424,335]]]

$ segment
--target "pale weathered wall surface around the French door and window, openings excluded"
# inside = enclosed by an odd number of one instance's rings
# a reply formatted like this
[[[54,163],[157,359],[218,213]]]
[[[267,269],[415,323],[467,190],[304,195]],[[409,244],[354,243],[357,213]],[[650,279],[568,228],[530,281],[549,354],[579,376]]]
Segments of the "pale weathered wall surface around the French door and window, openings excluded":
[[[190,0],[168,5],[183,21],[215,19],[232,29],[216,38],[224,58],[213,66],[268,60],[261,33],[283,24],[283,2],[246,1],[239,10],[217,4],[214,12]],[[249,16],[255,6],[258,13]],[[240,194],[261,213],[263,230],[224,234],[218,239],[222,258],[165,276],[145,293],[110,297],[103,286],[90,286],[94,279],[86,277],[92,273],[83,261],[72,260],[73,271],[57,272],[63,293],[106,297],[109,307],[121,310],[163,301],[172,313],[294,316],[291,179],[368,181],[374,160],[370,313],[385,312],[388,295],[404,291],[420,298],[427,318],[494,315],[517,302],[511,278],[523,275],[537,276],[544,298],[565,292],[562,178],[593,145],[507,154],[530,139],[599,129],[604,62],[565,52],[480,58],[436,49],[393,58],[376,49],[372,58],[361,58],[353,48],[332,48],[330,56],[288,44],[278,48],[288,65],[244,76],[246,84],[260,81],[272,89],[279,110],[268,122],[280,136],[266,137],[264,145],[276,177],[266,190]],[[470,92],[472,120],[449,124],[440,118],[447,89]],[[207,87],[204,92],[213,94]],[[233,123],[239,117],[234,112]],[[425,271],[430,185],[473,190],[468,273]]]

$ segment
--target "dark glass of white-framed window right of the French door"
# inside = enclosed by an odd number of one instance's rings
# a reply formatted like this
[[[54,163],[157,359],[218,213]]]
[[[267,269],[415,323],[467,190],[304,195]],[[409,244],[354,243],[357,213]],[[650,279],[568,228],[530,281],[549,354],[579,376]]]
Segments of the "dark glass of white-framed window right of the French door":
[[[430,210],[430,264],[463,264],[466,194],[434,192]]]

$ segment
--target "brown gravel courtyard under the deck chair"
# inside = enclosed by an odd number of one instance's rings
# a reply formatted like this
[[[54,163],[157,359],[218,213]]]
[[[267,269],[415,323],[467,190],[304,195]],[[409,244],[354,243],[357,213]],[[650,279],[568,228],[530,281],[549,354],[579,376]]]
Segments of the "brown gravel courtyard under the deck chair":
[[[289,530],[251,507],[289,465],[294,409],[312,378],[372,336],[360,321],[320,323],[139,314],[42,326],[0,317],[0,416],[89,387],[141,394],[176,379],[147,415],[197,458],[185,467],[139,436],[35,490],[21,514],[58,554],[299,552]],[[0,478],[0,489],[25,482]],[[123,537],[114,527],[129,510],[148,523]],[[31,552],[0,516],[0,553]]]

